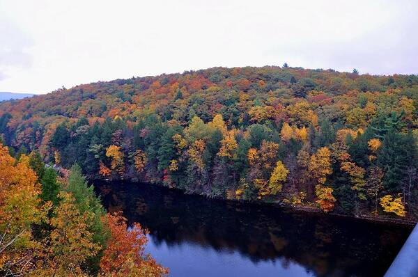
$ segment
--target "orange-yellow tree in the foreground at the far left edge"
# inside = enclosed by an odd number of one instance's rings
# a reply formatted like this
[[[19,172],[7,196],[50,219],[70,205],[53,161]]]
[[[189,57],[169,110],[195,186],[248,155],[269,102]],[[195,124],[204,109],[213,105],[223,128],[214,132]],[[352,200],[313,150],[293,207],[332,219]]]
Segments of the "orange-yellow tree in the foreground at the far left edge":
[[[31,226],[46,218],[40,184],[25,155],[16,162],[0,143],[0,271],[23,276],[39,248]]]

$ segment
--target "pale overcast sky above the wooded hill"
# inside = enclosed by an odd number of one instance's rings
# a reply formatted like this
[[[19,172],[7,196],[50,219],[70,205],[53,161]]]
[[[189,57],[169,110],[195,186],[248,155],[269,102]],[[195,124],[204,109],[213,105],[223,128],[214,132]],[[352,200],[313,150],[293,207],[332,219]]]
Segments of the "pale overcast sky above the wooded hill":
[[[0,0],[0,91],[284,63],[418,74],[417,14],[417,0]]]

